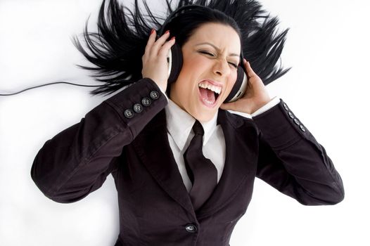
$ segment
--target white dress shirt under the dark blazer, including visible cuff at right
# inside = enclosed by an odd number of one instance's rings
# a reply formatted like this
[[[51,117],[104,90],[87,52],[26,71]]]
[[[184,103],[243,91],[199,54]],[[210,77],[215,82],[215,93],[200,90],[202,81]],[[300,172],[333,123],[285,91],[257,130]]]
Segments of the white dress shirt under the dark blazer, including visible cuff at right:
[[[193,124],[196,122],[188,112],[182,110],[176,103],[171,101],[169,98],[168,104],[165,107],[166,120],[167,120],[167,134],[170,147],[174,155],[174,160],[179,167],[182,180],[186,190],[190,192],[192,184],[189,176],[186,172],[184,162],[184,152],[189,146],[191,139],[194,136]],[[267,111],[269,108],[279,103],[278,98],[273,98],[272,101],[264,105],[262,108],[254,112],[252,115],[248,115],[243,112],[235,112],[229,110],[229,112],[241,115],[243,117],[252,118],[256,115],[260,115],[262,112]],[[203,136],[203,155],[210,159],[217,169],[217,183],[221,179],[222,171],[224,170],[225,163],[225,138],[224,132],[222,131],[221,125],[217,125],[217,113],[210,119],[209,122],[200,122],[204,129]]]

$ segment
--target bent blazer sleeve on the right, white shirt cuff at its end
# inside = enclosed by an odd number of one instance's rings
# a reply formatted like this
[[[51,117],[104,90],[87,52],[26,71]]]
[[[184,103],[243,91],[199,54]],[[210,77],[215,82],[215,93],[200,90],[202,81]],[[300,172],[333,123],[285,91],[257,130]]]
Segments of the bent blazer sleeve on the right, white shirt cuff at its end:
[[[333,205],[343,182],[322,145],[282,100],[254,117],[260,129],[257,177],[303,205]]]

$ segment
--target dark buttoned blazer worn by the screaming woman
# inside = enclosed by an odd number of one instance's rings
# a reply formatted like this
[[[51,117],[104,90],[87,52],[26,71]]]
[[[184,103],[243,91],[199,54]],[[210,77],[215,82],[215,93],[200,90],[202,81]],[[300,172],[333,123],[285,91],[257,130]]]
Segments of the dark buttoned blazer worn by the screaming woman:
[[[167,138],[167,100],[141,79],[47,141],[32,179],[56,202],[75,202],[112,174],[118,192],[116,245],[225,246],[248,207],[255,176],[304,205],[343,200],[343,183],[324,148],[281,101],[247,119],[219,110],[226,163],[197,212]]]

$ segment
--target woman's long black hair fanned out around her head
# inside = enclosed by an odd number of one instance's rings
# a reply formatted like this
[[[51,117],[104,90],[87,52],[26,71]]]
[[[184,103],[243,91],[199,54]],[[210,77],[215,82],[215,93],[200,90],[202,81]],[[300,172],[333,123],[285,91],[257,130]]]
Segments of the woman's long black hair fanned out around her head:
[[[92,77],[103,84],[92,94],[109,94],[141,79],[142,61],[148,35],[151,30],[163,29],[166,17],[153,13],[143,0],[143,12],[138,0],[134,8],[118,4],[117,0],[103,0],[98,15],[98,32],[84,30],[84,44],[77,37],[75,46],[95,66],[79,65],[94,71]],[[182,46],[196,27],[205,22],[220,22],[238,32],[241,37],[243,56],[260,76],[264,84],[278,79],[288,69],[278,65],[288,30],[278,33],[278,18],[270,17],[255,0],[178,0],[172,7],[172,0],[164,0],[167,5],[167,16],[177,8],[187,5],[208,7],[209,11],[196,14],[194,11],[179,15],[176,21],[166,22],[165,30],[176,37]],[[214,9],[215,11],[213,11]],[[222,12],[224,14],[220,14]],[[225,17],[226,16],[226,17]]]

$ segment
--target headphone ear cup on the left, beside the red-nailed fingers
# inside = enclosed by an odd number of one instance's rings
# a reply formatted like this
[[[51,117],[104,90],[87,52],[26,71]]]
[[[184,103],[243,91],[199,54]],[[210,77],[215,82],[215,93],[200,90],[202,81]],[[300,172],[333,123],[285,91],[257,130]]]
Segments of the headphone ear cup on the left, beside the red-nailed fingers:
[[[179,44],[174,44],[171,47],[171,51],[169,52],[169,56],[167,56],[167,63],[168,63],[168,84],[171,84],[177,80],[179,77],[181,67],[182,67],[182,53],[181,47]]]

